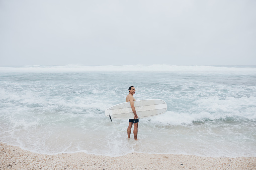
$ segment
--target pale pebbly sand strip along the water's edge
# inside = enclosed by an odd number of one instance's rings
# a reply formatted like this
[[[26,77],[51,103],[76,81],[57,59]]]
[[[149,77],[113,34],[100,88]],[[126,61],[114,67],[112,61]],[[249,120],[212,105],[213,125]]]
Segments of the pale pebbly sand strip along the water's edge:
[[[145,153],[118,157],[86,153],[46,155],[1,143],[0,169],[256,169],[256,157]]]

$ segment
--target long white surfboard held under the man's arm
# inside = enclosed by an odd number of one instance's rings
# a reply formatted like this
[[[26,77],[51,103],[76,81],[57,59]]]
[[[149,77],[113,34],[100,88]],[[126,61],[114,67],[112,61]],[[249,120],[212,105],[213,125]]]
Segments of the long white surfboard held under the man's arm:
[[[136,100],[134,106],[139,118],[156,116],[167,110],[167,104],[160,99]],[[105,115],[117,119],[134,118],[130,102],[120,103],[106,109]]]

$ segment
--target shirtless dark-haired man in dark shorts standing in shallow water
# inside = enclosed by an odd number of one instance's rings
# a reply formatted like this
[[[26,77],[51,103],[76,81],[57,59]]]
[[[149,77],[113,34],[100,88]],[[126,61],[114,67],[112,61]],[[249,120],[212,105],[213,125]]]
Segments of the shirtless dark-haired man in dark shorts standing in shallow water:
[[[128,90],[129,90],[129,94],[126,96],[126,102],[131,103],[131,108],[132,108],[132,112],[134,114],[134,119],[129,119],[129,126],[127,128],[127,134],[128,134],[128,138],[130,138],[132,124],[134,124],[133,134],[134,134],[134,139],[137,140],[139,118],[136,114],[136,110],[134,107],[135,98],[133,97],[133,95],[135,94],[135,88],[133,86],[131,86],[131,87],[129,87]]]

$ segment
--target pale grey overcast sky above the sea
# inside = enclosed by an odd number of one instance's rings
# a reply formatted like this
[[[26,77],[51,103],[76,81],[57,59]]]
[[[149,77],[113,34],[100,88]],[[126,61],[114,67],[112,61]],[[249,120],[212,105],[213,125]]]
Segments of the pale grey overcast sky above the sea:
[[[256,65],[256,1],[0,0],[0,65]]]

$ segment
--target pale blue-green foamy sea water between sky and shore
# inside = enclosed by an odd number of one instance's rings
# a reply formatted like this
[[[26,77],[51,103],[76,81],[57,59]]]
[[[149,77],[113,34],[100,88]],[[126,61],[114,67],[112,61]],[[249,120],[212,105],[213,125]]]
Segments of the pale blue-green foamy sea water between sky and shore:
[[[139,120],[138,141],[104,114],[131,85],[136,100],[167,103]],[[256,67],[0,67],[0,141],[45,154],[256,156]]]

